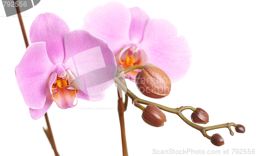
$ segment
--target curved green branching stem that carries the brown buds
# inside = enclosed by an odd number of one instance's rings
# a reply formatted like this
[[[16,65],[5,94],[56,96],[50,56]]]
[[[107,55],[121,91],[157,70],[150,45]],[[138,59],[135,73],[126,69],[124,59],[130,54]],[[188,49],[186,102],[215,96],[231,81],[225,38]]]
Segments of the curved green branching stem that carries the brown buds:
[[[123,71],[124,74],[132,71],[132,70],[135,70],[135,69],[142,69],[141,68],[141,65],[140,66],[132,66],[131,68],[127,68]],[[118,77],[122,76],[123,73],[117,73],[116,74],[116,84],[121,88],[121,90],[127,95],[129,96],[132,101],[133,101],[133,104],[140,108],[141,110],[144,110],[143,106],[140,105],[139,103],[141,104],[145,104],[145,105],[148,105],[148,104],[154,104],[156,105],[157,107],[159,107],[160,109],[166,111],[166,112],[169,112],[169,113],[173,113],[173,114],[177,114],[186,124],[188,124],[189,126],[201,131],[201,133],[203,134],[204,137],[210,139],[211,137],[207,135],[206,131],[208,130],[212,130],[212,129],[219,129],[219,128],[228,128],[229,131],[230,131],[230,135],[233,136],[233,131],[231,130],[230,126],[236,126],[236,124],[234,123],[226,123],[226,124],[220,124],[220,125],[215,125],[215,126],[207,126],[207,127],[203,127],[203,126],[200,126],[198,124],[195,124],[191,121],[189,121],[186,117],[183,116],[183,114],[181,113],[183,110],[185,109],[190,109],[190,110],[193,110],[193,112],[196,110],[196,108],[194,107],[191,107],[191,106],[181,106],[179,108],[169,108],[169,107],[166,107],[166,106],[163,106],[163,105],[160,105],[160,104],[157,104],[157,103],[154,103],[154,102],[150,102],[150,101],[146,101],[146,100],[143,100],[143,99],[140,99],[138,98],[136,95],[134,95],[119,79]]]

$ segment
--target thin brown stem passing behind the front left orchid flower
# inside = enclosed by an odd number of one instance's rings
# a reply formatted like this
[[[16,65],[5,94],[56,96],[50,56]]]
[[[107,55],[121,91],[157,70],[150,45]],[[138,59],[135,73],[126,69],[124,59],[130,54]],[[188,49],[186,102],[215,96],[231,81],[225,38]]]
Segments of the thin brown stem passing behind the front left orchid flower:
[[[17,2],[17,0],[14,0],[15,4],[16,4],[16,2]],[[22,15],[20,14],[19,7],[15,6],[15,8],[16,8],[16,11],[17,11],[17,14],[18,14],[18,20],[19,20],[20,27],[22,28],[22,33],[23,33],[23,38],[24,38],[25,44],[26,44],[26,48],[28,48],[29,47],[29,42],[28,42],[28,38],[27,38],[26,31],[25,31],[25,28],[24,28]],[[44,127],[42,127],[42,128],[44,129],[44,131],[46,133],[46,136],[47,136],[48,140],[50,141],[50,143],[52,145],[55,156],[59,156],[59,154],[57,152],[57,149],[56,149],[54,139],[53,139],[52,129],[51,129],[51,126],[50,126],[50,122],[49,122],[47,113],[45,114],[45,118],[46,118],[46,123],[47,123],[48,129],[45,129]]]

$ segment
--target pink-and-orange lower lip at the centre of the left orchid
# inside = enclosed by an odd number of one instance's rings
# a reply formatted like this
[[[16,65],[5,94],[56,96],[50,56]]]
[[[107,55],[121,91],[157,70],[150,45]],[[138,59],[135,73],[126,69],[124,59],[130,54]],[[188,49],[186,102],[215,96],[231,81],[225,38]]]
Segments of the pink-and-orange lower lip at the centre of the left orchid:
[[[58,89],[57,92],[52,95],[52,100],[62,109],[76,106],[77,99],[76,104],[73,104],[75,98],[77,98],[77,90],[69,90],[68,86]]]

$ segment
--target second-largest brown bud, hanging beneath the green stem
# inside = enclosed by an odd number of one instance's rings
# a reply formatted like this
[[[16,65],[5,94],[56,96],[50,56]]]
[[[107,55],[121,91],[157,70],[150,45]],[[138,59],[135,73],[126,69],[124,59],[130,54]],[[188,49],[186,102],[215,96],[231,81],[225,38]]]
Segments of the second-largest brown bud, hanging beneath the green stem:
[[[154,127],[163,126],[166,122],[166,117],[161,109],[154,104],[148,104],[142,113],[142,119],[145,123],[150,124]]]

